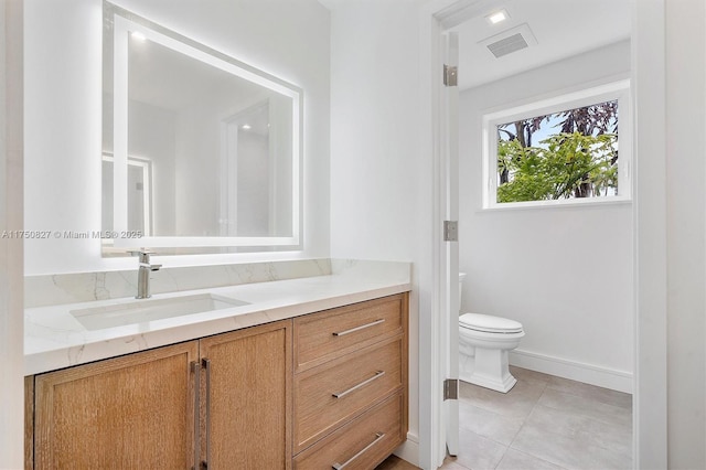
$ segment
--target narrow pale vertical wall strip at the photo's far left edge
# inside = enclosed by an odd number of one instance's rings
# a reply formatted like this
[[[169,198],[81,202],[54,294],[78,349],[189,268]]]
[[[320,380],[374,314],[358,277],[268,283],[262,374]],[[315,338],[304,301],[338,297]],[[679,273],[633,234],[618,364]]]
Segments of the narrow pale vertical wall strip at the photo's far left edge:
[[[0,3],[0,231],[22,229],[22,2]],[[0,469],[24,457],[22,239],[0,238]]]

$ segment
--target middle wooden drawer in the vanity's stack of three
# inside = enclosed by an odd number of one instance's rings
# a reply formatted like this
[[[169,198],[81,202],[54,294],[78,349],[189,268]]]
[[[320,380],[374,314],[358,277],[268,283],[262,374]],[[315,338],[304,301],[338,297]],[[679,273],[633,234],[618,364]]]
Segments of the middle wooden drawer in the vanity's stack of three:
[[[295,376],[295,452],[361,414],[404,381],[403,337]]]

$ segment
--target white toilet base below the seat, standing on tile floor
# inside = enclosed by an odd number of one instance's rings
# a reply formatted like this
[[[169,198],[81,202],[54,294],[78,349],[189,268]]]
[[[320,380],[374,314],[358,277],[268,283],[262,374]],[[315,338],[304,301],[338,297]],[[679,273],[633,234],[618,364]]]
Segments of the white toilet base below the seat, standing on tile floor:
[[[482,348],[475,348],[475,356],[459,354],[459,378],[502,393],[517,383],[510,373],[507,351]]]

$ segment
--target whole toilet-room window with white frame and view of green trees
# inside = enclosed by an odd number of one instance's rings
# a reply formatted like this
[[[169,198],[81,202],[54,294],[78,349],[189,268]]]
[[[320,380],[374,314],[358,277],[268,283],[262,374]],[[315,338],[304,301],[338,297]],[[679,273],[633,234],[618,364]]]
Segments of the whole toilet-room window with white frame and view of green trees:
[[[483,117],[483,206],[630,199],[629,82]]]

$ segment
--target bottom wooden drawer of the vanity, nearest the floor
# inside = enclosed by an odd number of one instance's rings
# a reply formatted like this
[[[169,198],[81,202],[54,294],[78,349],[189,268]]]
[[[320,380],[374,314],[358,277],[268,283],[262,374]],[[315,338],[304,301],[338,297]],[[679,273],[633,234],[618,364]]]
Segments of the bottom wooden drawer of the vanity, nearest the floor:
[[[295,469],[372,469],[406,438],[404,395],[395,394],[295,458]],[[347,464],[346,464],[347,463]],[[336,467],[339,466],[339,467]]]

